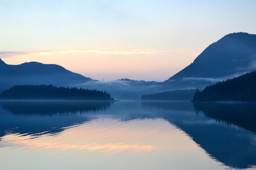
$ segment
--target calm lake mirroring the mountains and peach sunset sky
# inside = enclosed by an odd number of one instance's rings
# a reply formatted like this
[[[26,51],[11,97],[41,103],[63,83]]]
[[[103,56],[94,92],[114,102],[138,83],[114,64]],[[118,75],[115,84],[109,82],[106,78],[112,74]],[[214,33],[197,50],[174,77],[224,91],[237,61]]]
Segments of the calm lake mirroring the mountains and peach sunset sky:
[[[256,104],[1,101],[0,169],[256,169]]]

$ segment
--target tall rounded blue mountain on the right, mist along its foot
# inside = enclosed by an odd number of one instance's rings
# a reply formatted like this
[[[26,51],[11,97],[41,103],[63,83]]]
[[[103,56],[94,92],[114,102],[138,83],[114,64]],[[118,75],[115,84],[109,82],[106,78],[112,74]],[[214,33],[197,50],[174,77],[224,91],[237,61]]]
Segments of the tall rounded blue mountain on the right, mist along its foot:
[[[170,77],[174,80],[211,80],[256,69],[256,35],[230,33],[209,45],[192,64]]]

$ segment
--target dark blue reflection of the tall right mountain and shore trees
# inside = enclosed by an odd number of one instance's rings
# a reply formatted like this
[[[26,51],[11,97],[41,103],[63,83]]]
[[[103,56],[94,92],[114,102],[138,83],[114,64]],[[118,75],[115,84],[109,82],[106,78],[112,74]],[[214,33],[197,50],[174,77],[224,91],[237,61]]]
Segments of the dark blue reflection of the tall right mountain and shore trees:
[[[255,104],[143,102],[142,106],[162,110],[159,116],[185,131],[212,158],[225,165],[256,165]]]

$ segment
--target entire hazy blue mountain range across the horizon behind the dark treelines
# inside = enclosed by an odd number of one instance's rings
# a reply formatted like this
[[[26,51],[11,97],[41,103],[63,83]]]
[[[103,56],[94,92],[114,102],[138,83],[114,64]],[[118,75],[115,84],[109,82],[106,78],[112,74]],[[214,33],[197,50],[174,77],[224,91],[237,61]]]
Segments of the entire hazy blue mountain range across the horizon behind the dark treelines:
[[[0,91],[14,85],[52,84],[106,90],[115,99],[140,99],[143,94],[203,89],[218,81],[256,70],[256,35],[230,33],[209,45],[192,64],[164,82],[130,79],[100,82],[56,64],[37,62],[8,65],[0,59]]]

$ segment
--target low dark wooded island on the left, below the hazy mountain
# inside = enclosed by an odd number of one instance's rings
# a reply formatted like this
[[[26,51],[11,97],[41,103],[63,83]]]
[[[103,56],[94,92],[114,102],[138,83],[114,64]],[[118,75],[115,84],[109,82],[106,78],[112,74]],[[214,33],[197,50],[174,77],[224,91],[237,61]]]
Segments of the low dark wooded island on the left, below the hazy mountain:
[[[52,85],[13,86],[2,91],[1,99],[47,99],[47,100],[114,100],[106,91],[55,87]]]

